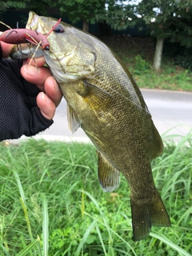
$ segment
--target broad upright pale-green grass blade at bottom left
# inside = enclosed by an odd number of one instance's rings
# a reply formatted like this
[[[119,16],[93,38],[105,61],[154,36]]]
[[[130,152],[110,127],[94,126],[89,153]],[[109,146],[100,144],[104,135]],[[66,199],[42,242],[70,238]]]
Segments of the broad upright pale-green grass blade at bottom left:
[[[42,198],[42,241],[43,256],[48,256],[49,250],[49,215],[47,208],[46,194],[41,194]]]

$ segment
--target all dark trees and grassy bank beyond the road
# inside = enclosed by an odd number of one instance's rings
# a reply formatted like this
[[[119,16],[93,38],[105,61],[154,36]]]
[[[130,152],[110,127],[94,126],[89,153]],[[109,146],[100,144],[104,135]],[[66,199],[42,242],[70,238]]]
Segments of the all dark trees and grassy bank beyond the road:
[[[95,0],[91,3],[88,0],[0,0],[0,4],[0,15],[4,11],[2,16],[8,23],[9,10],[17,13],[21,10],[19,21],[23,20],[23,14],[27,17],[28,11],[34,10],[40,15],[68,18],[75,25],[82,21],[84,30],[89,30],[89,24],[97,23],[97,36],[122,58],[138,86],[192,90],[190,0]],[[137,37],[129,36],[133,30]]]

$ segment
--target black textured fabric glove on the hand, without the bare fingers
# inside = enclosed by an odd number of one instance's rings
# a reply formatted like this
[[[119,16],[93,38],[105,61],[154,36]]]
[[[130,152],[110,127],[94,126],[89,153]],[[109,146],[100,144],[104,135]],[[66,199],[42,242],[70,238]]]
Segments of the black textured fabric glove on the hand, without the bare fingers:
[[[22,78],[21,67],[22,61],[0,61],[0,141],[38,134],[53,123],[39,110],[40,90]]]

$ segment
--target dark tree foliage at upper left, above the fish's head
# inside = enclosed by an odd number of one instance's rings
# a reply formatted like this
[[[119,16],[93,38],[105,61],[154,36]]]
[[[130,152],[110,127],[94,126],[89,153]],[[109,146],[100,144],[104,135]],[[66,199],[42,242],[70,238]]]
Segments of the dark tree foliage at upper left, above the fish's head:
[[[12,0],[6,3],[0,0],[0,4],[1,6],[6,5],[6,8],[17,10],[34,10],[39,15],[49,15],[54,8],[56,14],[65,14],[73,23],[82,21],[83,30],[86,31],[89,30],[89,23],[101,21],[106,14],[105,0]]]

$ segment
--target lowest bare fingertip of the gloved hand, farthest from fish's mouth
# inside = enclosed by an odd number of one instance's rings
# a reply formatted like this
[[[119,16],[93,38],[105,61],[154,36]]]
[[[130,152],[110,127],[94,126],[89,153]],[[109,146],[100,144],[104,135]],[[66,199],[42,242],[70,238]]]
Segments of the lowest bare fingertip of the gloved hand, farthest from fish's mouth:
[[[45,118],[49,120],[54,118],[56,106],[54,105],[54,102],[52,102],[43,92],[38,94],[37,105]]]

